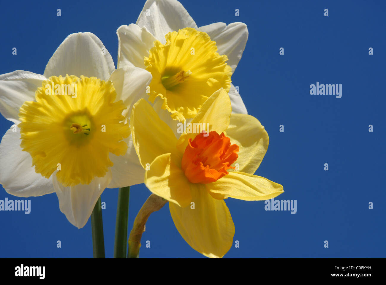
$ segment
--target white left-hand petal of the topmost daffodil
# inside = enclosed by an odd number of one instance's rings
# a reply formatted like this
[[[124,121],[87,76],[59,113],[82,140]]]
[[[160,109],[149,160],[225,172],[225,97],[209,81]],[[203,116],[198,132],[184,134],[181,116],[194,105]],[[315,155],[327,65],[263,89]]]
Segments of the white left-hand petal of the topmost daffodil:
[[[129,65],[146,68],[144,57],[149,56],[150,49],[157,39],[146,27],[135,24],[122,25],[118,35],[118,68]]]

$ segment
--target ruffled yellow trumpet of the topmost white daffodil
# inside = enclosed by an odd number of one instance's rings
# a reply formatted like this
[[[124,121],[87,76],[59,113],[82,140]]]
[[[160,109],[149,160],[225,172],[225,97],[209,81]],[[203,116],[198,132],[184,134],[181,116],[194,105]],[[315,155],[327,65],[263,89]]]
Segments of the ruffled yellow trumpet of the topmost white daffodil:
[[[174,120],[193,118],[202,104],[220,88],[230,89],[232,68],[226,55],[217,53],[216,42],[193,28],[169,32],[166,44],[154,41],[145,57],[152,74],[149,101],[163,99],[163,109]]]

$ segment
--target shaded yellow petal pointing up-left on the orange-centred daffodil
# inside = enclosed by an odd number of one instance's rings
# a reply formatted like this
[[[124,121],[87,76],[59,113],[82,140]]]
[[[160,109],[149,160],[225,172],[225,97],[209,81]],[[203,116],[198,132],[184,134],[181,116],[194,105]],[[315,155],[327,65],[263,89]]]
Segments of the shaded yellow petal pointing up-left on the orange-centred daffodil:
[[[134,104],[130,116],[130,128],[135,151],[146,169],[152,161],[164,153],[173,153],[177,139],[169,126],[159,119],[154,109],[144,99]]]

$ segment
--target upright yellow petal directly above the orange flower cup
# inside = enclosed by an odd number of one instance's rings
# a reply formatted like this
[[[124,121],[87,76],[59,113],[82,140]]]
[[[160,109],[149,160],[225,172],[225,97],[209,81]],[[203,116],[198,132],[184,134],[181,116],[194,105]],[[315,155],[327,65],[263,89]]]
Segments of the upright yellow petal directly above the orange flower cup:
[[[230,105],[229,95],[221,88],[205,101],[197,115],[191,120],[191,124],[209,123],[210,132],[216,131],[218,134],[221,134],[229,126],[231,113],[232,107]],[[189,138],[193,140],[196,135],[197,134],[181,134],[177,142],[178,150],[183,153],[188,145]]]

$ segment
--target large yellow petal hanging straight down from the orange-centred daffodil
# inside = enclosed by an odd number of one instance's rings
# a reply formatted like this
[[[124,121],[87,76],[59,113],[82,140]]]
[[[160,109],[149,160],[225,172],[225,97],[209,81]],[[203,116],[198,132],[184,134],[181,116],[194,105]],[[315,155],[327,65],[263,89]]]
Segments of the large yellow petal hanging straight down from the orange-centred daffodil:
[[[191,184],[193,206],[169,203],[178,232],[196,251],[207,257],[224,256],[233,244],[235,226],[223,200],[213,199],[201,184]]]

